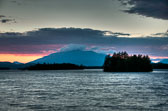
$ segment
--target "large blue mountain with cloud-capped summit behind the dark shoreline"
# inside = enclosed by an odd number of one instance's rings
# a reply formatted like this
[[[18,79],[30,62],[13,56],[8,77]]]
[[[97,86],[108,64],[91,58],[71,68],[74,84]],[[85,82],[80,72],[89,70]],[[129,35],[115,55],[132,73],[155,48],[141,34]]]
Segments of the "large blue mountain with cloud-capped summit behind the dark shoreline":
[[[105,56],[105,54],[100,54],[93,51],[73,50],[53,53],[30,63],[71,63],[84,66],[102,66]]]

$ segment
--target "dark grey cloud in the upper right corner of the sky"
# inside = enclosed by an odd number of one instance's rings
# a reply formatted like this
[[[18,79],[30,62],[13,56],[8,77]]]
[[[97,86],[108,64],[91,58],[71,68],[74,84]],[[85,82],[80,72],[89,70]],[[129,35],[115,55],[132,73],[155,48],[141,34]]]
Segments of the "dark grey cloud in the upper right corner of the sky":
[[[123,5],[131,6],[127,13],[168,20],[168,0],[120,0]]]

